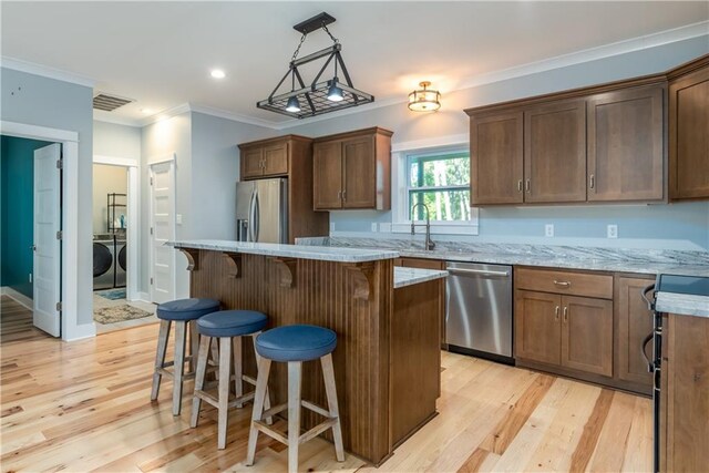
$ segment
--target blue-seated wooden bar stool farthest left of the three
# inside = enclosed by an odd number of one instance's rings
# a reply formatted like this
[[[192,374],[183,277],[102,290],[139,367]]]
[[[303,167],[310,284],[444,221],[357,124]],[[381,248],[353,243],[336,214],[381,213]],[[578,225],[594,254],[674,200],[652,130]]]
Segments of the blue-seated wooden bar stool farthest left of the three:
[[[157,318],[160,321],[160,332],[157,336],[157,353],[155,354],[155,369],[153,371],[153,390],[151,401],[157,399],[160,383],[163,376],[173,379],[173,415],[179,415],[182,410],[182,384],[183,379],[192,377],[196,361],[198,347],[197,330],[194,321],[199,317],[219,310],[219,301],[214,299],[178,299],[171,300],[157,306]],[[165,362],[167,351],[167,340],[169,328],[175,323],[175,356],[173,361]],[[189,323],[193,322],[193,323]],[[187,329],[189,328],[189,352],[185,358],[185,343],[187,341]],[[191,373],[185,374],[185,360],[189,361]],[[172,371],[166,368],[173,367]]]

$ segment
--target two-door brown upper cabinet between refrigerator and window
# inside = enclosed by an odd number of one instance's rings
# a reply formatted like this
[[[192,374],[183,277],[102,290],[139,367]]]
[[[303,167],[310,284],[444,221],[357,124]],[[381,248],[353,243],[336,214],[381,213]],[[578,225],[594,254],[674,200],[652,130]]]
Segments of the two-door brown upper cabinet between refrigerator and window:
[[[314,208],[391,208],[391,135],[373,127],[317,138]]]

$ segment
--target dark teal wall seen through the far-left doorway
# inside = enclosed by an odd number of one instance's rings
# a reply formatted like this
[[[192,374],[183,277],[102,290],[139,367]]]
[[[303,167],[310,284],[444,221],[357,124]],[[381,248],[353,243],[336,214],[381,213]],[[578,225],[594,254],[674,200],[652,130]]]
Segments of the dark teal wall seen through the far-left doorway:
[[[34,150],[51,143],[1,137],[1,270],[0,285],[32,298]]]

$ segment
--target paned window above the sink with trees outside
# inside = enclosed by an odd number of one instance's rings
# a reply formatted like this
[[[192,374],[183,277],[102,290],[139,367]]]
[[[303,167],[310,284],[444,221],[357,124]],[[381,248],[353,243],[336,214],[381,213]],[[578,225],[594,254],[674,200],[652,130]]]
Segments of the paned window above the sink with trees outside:
[[[405,156],[407,219],[470,222],[470,153],[449,151]],[[414,208],[415,206],[415,208]]]

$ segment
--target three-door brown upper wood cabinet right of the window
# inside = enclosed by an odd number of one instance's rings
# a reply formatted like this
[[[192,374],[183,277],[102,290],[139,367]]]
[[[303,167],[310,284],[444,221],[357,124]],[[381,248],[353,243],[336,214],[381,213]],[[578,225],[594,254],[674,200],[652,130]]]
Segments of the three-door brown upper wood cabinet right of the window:
[[[470,109],[473,205],[666,199],[664,76]]]

